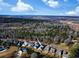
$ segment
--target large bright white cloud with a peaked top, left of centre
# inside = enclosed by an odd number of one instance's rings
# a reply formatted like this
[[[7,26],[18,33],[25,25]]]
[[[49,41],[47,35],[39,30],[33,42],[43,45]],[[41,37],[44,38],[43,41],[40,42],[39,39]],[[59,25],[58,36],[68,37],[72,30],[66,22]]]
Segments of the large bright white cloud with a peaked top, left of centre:
[[[33,11],[33,7],[29,4],[26,4],[22,2],[21,0],[18,0],[16,6],[11,8],[11,11],[13,12],[24,12],[24,11]]]

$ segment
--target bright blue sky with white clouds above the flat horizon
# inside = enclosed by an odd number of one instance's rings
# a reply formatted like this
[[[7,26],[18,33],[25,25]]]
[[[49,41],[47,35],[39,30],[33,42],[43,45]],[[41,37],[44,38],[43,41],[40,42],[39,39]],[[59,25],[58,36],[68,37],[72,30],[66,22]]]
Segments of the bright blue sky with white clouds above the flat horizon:
[[[79,16],[79,0],[0,0],[0,15]]]

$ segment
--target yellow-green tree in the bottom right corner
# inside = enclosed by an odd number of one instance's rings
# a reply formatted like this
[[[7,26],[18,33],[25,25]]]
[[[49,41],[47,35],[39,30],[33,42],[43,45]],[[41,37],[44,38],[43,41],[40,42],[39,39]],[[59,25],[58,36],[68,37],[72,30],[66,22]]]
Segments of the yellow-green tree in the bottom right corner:
[[[69,52],[69,57],[70,58],[78,58],[79,57],[79,44],[74,44]]]

